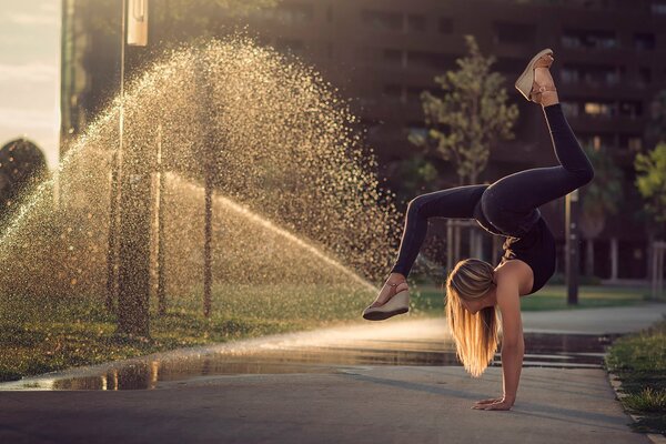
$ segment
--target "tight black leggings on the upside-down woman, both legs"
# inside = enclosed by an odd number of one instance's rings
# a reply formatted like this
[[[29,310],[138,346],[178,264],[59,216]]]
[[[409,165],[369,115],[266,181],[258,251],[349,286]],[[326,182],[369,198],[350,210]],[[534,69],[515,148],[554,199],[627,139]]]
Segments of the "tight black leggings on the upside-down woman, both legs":
[[[561,164],[519,171],[490,185],[463,185],[416,196],[407,205],[393,273],[408,275],[425,239],[430,218],[474,219],[475,210],[481,208],[485,219],[502,232],[497,234],[519,238],[541,216],[539,205],[571,193],[593,179],[592,164],[568,125],[562,105],[543,107],[543,111]]]

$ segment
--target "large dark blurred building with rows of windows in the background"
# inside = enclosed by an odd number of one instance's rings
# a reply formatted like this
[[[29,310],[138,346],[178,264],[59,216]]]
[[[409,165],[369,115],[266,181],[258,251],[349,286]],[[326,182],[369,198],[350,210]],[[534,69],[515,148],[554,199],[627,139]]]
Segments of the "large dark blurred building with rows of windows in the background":
[[[75,3],[90,2],[63,0],[63,11]],[[71,11],[71,16],[63,12],[63,37],[83,23]],[[82,11],[90,13],[90,8]],[[557,164],[541,110],[513,89],[529,57],[552,48],[553,73],[574,132],[582,144],[606,150],[625,174],[623,209],[607,220],[594,244],[595,274],[612,280],[646,278],[648,241],[644,223],[634,216],[642,202],[633,185],[633,159],[654,143],[644,137],[650,99],[666,87],[666,0],[282,0],[248,21],[262,42],[314,64],[352,99],[385,176],[417,152],[407,134],[424,127],[420,93],[435,87],[436,74],[455,68],[455,59],[466,51],[465,34],[474,34],[482,51],[497,58],[495,69],[506,77],[511,100],[521,111],[515,140],[493,151],[482,180]],[[99,46],[104,42],[100,39]],[[82,57],[75,54],[77,44],[70,47],[69,51],[63,47],[67,134],[78,131],[74,122],[85,120],[67,115],[90,115],[99,102],[94,94],[113,91],[109,72],[114,71],[109,67],[118,63],[113,51],[100,60],[103,52],[97,49],[94,33],[89,34],[82,51],[97,57],[97,72],[105,74],[83,69],[85,85],[68,90],[65,82],[77,82],[65,70]],[[400,178],[387,179],[392,188],[400,186]],[[452,175],[451,185],[455,183]],[[542,209],[561,254],[563,209],[564,199]],[[582,253],[585,261],[586,249]]]

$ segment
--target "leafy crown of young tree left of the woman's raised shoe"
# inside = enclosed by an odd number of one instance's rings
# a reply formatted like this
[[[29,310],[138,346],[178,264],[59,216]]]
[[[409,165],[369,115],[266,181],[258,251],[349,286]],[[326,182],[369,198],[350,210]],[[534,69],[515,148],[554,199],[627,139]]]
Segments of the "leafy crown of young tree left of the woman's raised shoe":
[[[434,142],[437,154],[454,162],[461,185],[477,182],[492,147],[498,139],[513,139],[518,117],[517,107],[506,104],[504,77],[491,71],[495,58],[483,56],[473,36],[465,41],[468,54],[456,60],[458,70],[435,77],[443,94],[421,94],[427,135],[410,134],[420,147]]]

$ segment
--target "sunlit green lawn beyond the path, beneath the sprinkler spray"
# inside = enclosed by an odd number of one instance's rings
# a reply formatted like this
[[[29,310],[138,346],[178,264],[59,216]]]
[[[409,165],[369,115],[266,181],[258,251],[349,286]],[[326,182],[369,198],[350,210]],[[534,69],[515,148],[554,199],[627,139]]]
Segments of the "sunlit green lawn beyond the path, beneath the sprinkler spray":
[[[442,316],[444,299],[434,285],[413,285],[410,315]],[[198,292],[169,301],[164,315],[152,307],[150,339],[117,334],[115,316],[92,297],[17,296],[0,300],[0,381],[71,366],[99,364],[154,352],[266,334],[362,322],[376,296],[335,285],[254,285],[213,289],[212,315],[201,314]],[[579,306],[644,301],[638,289],[582,287]],[[564,286],[523,299],[524,310],[566,309]],[[4,315],[2,315],[4,313]],[[8,316],[7,314],[11,314]]]

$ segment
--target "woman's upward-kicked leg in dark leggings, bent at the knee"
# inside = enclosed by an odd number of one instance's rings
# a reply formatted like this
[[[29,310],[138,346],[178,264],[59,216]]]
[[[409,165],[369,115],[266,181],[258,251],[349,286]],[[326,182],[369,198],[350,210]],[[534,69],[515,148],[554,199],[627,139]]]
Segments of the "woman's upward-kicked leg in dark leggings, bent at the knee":
[[[566,121],[562,105],[543,107],[543,112],[561,164],[519,171],[488,186],[482,205],[491,222],[498,219],[498,224],[507,224],[507,215],[517,219],[527,215],[537,206],[571,193],[594,178],[592,164]]]

